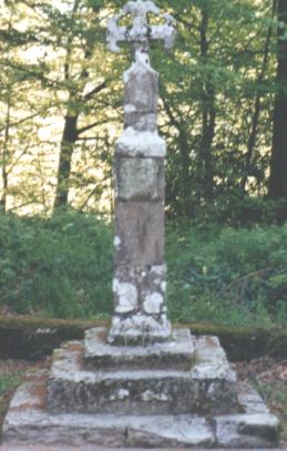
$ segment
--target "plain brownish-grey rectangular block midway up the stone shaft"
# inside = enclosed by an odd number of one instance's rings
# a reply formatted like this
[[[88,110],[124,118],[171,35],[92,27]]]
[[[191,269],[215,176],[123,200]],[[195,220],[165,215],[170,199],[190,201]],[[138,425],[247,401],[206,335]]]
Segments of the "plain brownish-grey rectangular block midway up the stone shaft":
[[[163,202],[116,202],[115,265],[153,266],[164,263]]]

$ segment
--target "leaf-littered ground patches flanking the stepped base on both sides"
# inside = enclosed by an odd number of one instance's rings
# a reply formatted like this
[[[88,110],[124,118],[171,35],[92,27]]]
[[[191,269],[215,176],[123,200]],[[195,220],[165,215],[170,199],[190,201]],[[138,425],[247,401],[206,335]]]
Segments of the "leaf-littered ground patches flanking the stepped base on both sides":
[[[50,360],[0,360],[0,430],[16,388],[28,373],[49,366]],[[233,365],[238,379],[249,382],[260,392],[270,410],[280,418],[281,447],[287,449],[287,360],[262,358]]]

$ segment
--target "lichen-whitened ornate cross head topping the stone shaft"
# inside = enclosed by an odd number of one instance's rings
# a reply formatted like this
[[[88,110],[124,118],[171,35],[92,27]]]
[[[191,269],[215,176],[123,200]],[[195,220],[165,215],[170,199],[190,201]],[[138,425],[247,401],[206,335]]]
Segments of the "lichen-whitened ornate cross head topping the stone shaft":
[[[164,20],[163,24],[151,24],[148,13],[158,16]],[[119,22],[126,14],[131,14],[133,24],[131,28],[120,25]],[[143,58],[148,62],[148,50],[151,41],[164,41],[165,48],[174,45],[176,30],[174,19],[168,13],[161,13],[151,0],[135,0],[125,3],[123,9],[107,21],[107,45],[112,52],[119,53],[117,43],[131,42],[134,45],[135,61]]]

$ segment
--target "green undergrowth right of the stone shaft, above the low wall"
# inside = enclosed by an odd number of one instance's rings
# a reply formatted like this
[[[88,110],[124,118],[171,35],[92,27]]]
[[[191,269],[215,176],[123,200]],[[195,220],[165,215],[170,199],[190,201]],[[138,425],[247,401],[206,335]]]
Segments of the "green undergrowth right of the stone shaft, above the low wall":
[[[177,321],[284,324],[287,226],[171,229],[168,300]]]

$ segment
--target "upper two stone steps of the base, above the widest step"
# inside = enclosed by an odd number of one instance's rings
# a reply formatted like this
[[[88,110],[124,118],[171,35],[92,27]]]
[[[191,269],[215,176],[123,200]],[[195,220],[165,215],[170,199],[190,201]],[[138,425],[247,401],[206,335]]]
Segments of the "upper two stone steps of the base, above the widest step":
[[[103,329],[88,332],[85,347],[81,342],[68,342],[54,351],[48,380],[51,412],[142,416],[237,411],[236,377],[217,338],[193,337],[192,340],[189,331],[183,329],[174,332],[170,344],[126,347],[121,355],[122,347],[105,345],[104,332]],[[155,366],[161,351],[156,369],[150,368],[148,363]],[[184,356],[187,357],[185,368]],[[178,360],[182,360],[180,367]],[[136,361],[141,365],[135,369]],[[89,365],[93,370],[88,370]]]

